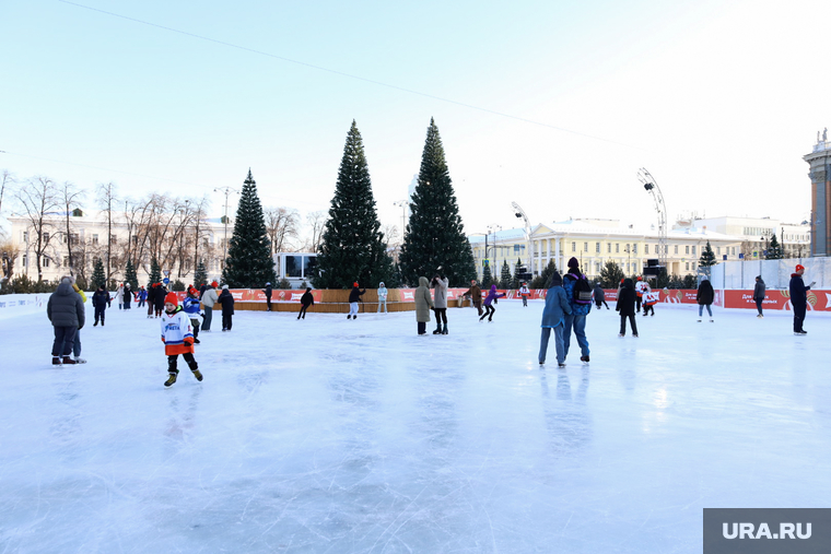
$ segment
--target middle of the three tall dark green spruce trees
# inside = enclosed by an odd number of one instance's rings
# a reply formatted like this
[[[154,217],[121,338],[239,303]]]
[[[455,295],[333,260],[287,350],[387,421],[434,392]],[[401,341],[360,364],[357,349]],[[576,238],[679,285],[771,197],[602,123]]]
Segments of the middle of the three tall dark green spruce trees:
[[[395,280],[393,258],[387,254],[375,211],[363,140],[354,120],[347,133],[329,220],[317,251],[312,282],[318,288],[351,288],[355,281],[376,288],[382,281],[388,284]]]

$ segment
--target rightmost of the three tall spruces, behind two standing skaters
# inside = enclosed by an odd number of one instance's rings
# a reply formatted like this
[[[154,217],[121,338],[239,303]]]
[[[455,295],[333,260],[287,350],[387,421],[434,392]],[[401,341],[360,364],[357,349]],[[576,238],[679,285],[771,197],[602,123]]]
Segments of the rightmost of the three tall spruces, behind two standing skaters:
[[[419,276],[430,276],[440,267],[450,286],[465,286],[476,279],[473,252],[465,236],[444,146],[432,118],[410,211],[399,256],[405,281],[415,284]]]

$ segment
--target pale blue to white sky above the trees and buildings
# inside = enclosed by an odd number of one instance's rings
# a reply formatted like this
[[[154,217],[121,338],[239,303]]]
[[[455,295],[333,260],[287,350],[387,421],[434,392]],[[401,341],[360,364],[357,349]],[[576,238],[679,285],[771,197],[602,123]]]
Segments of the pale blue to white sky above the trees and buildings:
[[[250,167],[264,205],[306,213],[355,119],[400,225],[435,117],[470,233],[515,225],[512,200],[535,223],[653,221],[642,166],[670,220],[801,221],[801,156],[831,123],[822,1],[79,3],[249,50],[0,1],[0,169],[21,179],[201,196]]]

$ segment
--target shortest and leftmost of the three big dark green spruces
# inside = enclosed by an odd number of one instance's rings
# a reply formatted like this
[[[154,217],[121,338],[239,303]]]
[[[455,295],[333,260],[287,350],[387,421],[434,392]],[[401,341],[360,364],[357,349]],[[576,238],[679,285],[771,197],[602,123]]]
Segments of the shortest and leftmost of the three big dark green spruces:
[[[271,241],[266,231],[257,182],[248,169],[236,209],[234,234],[229,240],[222,281],[232,288],[256,288],[277,281]]]

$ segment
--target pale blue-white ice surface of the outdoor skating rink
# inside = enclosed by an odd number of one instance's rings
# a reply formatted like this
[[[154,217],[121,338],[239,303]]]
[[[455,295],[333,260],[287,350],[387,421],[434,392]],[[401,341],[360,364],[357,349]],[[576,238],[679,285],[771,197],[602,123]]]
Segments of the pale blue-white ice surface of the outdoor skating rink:
[[[143,310],[67,367],[45,313],[0,319],[0,552],[688,553],[704,507],[829,507],[831,317],[695,309],[593,310],[564,370],[542,302],[447,337],[241,311],[171,389]]]

